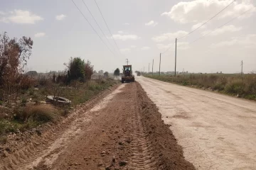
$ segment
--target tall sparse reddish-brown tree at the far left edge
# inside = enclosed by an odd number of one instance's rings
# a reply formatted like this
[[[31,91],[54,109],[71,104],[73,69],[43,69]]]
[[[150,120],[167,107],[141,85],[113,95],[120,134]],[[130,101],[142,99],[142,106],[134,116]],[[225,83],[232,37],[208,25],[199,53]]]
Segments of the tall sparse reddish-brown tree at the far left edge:
[[[5,84],[11,88],[20,84],[32,46],[31,38],[10,39],[6,32],[0,35],[0,86]]]

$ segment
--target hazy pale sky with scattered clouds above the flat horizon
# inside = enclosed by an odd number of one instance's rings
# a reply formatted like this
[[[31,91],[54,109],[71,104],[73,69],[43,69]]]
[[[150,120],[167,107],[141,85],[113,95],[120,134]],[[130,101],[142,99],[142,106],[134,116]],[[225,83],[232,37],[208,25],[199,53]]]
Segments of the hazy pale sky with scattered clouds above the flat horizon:
[[[178,72],[238,73],[241,61],[245,73],[256,71],[253,1],[237,0],[230,6],[233,0],[73,1],[0,0],[0,33],[31,37],[34,42],[27,71],[63,70],[70,57],[81,57],[90,60],[96,71],[107,72],[122,69],[126,59],[134,70],[151,72],[154,60],[155,72],[160,53],[161,72],[174,71],[176,38]]]

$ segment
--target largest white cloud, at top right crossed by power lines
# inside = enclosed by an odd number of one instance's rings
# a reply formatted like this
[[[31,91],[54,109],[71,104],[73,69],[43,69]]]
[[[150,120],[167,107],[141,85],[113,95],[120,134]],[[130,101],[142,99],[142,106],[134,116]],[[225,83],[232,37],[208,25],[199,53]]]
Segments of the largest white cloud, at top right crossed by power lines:
[[[178,23],[193,23],[208,20],[208,18],[221,11],[225,6],[228,6],[233,0],[195,0],[181,1],[172,6],[171,11],[164,12],[161,16],[169,16],[172,20]],[[235,1],[232,5],[225,9],[217,18],[226,18],[238,16],[240,13],[247,11],[254,5],[251,1]],[[255,8],[247,13],[244,17],[250,17]],[[244,18],[243,17],[243,18]]]

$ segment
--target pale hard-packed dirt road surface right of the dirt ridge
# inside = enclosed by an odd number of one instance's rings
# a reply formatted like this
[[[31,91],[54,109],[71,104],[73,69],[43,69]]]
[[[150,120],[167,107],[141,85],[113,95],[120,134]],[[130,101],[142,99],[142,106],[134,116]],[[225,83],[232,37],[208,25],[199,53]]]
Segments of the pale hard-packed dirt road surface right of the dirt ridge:
[[[256,103],[137,77],[196,169],[256,169]]]

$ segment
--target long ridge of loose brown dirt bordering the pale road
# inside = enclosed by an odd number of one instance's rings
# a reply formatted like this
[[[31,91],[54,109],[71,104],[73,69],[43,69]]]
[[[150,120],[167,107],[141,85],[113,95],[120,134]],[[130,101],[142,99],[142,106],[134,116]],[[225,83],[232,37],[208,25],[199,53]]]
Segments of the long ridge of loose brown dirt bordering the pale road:
[[[161,120],[156,105],[146,96],[142,86],[139,83],[136,85],[142,122],[154,147],[154,157],[159,160],[157,166],[161,169],[195,169],[193,164],[184,159],[182,147],[178,145],[169,125]]]

